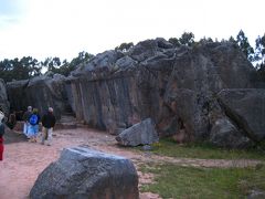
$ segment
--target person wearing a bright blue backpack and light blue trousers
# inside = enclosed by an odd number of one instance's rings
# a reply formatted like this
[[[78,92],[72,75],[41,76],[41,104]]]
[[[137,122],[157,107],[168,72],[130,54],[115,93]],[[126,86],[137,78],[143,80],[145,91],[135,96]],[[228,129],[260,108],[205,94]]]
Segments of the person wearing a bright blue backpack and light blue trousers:
[[[31,143],[36,143],[36,136],[39,134],[39,123],[40,123],[40,115],[38,113],[36,108],[33,108],[32,114],[30,115],[28,119],[28,136],[30,137]]]

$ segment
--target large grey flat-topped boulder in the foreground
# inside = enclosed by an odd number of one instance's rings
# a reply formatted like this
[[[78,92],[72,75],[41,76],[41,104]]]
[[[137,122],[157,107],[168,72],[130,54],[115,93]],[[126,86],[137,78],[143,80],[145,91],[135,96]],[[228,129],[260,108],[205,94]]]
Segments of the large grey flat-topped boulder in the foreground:
[[[67,148],[38,177],[30,198],[138,199],[138,176],[126,158]]]

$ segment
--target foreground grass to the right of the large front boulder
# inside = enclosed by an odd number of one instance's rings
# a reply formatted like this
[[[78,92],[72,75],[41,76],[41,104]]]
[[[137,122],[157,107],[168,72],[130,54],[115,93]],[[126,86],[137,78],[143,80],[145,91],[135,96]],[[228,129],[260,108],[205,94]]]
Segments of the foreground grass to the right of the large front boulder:
[[[251,190],[265,191],[265,166],[255,168],[194,168],[171,164],[142,165],[155,174],[155,184],[144,185],[162,198],[245,198]]]

